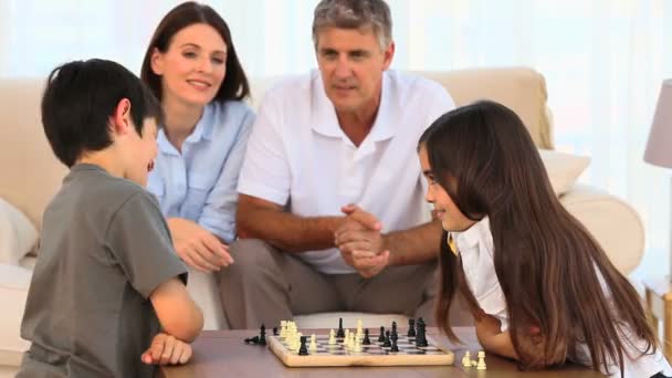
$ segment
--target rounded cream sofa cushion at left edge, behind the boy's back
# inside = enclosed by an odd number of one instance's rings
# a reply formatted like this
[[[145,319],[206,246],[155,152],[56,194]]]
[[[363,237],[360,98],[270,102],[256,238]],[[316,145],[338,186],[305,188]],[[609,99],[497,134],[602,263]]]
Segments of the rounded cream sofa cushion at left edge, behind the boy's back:
[[[17,265],[38,241],[38,230],[11,203],[0,198],[0,264]]]

